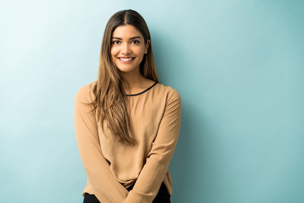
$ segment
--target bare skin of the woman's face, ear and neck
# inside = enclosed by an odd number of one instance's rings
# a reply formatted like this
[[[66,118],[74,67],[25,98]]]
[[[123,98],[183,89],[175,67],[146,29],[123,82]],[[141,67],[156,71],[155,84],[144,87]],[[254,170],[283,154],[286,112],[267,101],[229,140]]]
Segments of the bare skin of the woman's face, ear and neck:
[[[123,84],[126,94],[139,93],[155,83],[145,78],[139,69],[149,45],[150,40],[145,44],[143,35],[132,25],[118,26],[113,32],[111,59],[126,81],[126,84]],[[119,59],[121,57],[133,59],[126,63]]]

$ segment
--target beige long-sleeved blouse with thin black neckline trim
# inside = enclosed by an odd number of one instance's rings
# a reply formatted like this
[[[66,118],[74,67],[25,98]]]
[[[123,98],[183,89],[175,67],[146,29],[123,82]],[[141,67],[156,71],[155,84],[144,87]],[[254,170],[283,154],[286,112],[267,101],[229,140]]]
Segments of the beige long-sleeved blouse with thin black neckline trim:
[[[97,81],[82,86],[75,96],[74,127],[77,146],[87,174],[84,193],[101,203],[152,203],[164,182],[172,194],[168,170],[181,123],[181,98],[177,90],[155,83],[130,95],[135,146],[102,133],[92,105]],[[135,186],[129,192],[126,188]]]

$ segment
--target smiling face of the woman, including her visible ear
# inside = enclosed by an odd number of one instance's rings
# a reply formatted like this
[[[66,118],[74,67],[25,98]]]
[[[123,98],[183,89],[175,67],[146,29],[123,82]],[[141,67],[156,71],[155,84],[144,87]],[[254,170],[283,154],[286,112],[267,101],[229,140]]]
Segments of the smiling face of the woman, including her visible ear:
[[[143,35],[133,25],[118,26],[112,37],[111,59],[121,72],[139,71],[139,65],[150,40],[145,45]]]

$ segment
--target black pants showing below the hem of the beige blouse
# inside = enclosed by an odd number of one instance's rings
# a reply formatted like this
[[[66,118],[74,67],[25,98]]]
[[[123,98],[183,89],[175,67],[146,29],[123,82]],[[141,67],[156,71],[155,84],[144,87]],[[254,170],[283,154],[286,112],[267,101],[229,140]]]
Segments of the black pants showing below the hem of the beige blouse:
[[[128,187],[127,190],[130,191],[131,189],[133,189],[134,185],[135,184]],[[84,203],[101,203],[101,202],[99,202],[99,200],[97,199],[97,197],[94,194],[85,193],[84,194]],[[167,187],[165,186],[164,182],[160,186],[158,193],[152,203],[171,203],[170,195],[169,195],[169,192],[168,192]]]

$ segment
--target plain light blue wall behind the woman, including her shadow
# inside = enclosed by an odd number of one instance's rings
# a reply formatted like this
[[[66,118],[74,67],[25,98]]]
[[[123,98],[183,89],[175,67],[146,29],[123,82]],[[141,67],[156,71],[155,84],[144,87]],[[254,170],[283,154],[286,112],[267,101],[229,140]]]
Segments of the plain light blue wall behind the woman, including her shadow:
[[[171,202],[303,203],[300,0],[2,1],[0,202],[82,203],[74,96],[122,9],[146,19],[160,82],[182,97]]]

